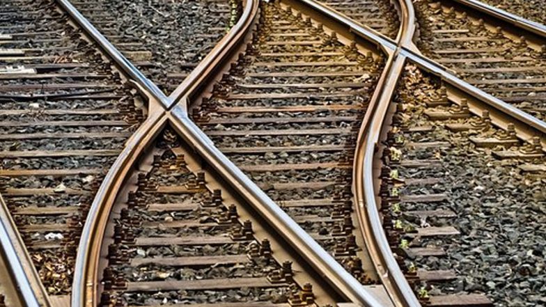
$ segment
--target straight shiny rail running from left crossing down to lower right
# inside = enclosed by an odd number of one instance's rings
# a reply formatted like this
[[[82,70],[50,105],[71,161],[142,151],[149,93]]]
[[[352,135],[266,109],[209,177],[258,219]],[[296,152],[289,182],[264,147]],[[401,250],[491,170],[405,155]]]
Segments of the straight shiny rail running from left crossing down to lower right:
[[[259,212],[292,248],[302,255],[323,278],[340,294],[355,304],[366,307],[379,307],[380,302],[368,292],[339,262],[322,248],[303,230],[284,210],[279,207],[262,189],[231,162],[208,136],[188,117],[184,103],[177,105],[169,116],[175,129],[205,161],[227,182],[232,184],[244,200]]]

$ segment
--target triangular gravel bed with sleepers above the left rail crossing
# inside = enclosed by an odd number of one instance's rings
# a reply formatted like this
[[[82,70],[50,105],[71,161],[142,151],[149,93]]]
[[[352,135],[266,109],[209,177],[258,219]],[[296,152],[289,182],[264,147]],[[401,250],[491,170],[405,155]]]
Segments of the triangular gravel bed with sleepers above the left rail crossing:
[[[72,4],[166,94],[224,37],[241,10],[237,1],[222,0]]]

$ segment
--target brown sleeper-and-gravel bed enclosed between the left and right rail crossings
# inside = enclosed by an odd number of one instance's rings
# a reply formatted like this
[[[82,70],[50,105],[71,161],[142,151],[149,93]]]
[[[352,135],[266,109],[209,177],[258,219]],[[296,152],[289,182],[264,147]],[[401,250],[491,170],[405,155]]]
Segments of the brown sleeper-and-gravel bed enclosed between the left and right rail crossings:
[[[193,118],[221,152],[361,283],[377,283],[353,217],[352,143],[382,55],[264,5],[245,56]]]

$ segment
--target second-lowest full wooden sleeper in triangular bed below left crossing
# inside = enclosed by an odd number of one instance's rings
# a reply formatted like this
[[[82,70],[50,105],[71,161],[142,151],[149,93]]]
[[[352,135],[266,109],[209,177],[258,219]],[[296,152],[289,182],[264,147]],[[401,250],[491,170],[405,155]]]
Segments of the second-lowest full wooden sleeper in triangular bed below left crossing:
[[[233,265],[250,262],[247,255],[205,255],[189,257],[135,258],[132,267],[139,265],[167,265],[169,267],[195,267],[205,265]]]

